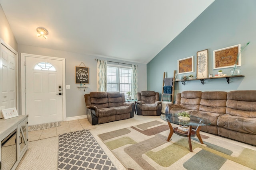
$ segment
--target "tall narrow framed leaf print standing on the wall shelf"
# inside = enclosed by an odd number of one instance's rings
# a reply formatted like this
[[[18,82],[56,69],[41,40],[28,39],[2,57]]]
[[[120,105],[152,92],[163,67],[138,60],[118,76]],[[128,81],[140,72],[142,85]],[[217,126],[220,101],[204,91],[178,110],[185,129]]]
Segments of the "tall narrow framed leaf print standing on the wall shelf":
[[[208,49],[197,52],[196,78],[208,77]]]

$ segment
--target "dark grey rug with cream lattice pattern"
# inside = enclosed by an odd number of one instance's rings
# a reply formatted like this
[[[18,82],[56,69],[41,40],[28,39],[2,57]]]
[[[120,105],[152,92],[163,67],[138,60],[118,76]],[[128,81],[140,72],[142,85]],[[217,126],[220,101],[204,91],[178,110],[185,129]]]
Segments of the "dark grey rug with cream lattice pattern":
[[[59,135],[59,170],[116,170],[88,129]]]

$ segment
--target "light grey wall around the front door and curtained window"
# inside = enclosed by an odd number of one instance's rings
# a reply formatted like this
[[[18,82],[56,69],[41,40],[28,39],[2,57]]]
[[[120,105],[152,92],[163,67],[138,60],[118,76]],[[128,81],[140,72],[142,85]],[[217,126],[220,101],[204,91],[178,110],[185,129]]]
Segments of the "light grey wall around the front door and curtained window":
[[[66,117],[75,117],[80,115],[86,115],[86,105],[84,101],[84,94],[97,91],[97,59],[104,59],[107,61],[114,61],[127,64],[137,64],[138,66],[138,91],[147,90],[147,70],[146,64],[131,63],[126,61],[119,61],[113,59],[107,59],[102,57],[94,57],[90,55],[82,55],[78,53],[71,53],[67,51],[58,51],[53,49],[46,49],[40,47],[33,47],[28,45],[18,45],[18,53],[28,53],[34,55],[44,55],[50,57],[59,57],[66,59],[66,85],[70,85],[70,89],[66,89]],[[79,66],[83,62],[86,67],[89,68],[89,84],[88,88],[84,92],[78,90],[77,86],[80,84],[75,83],[75,66]],[[20,65],[20,58],[19,58]],[[20,72],[20,71],[19,71]],[[20,74],[19,74],[20,77]],[[20,78],[19,78],[20,82]],[[21,94],[20,94],[21,96]],[[20,108],[21,110],[21,108]]]

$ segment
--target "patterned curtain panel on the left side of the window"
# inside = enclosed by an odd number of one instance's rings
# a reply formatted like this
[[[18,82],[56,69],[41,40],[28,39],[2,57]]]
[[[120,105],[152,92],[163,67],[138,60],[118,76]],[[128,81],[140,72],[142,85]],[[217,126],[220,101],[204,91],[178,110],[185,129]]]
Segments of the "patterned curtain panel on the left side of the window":
[[[97,91],[106,92],[107,91],[107,61],[99,60],[97,61]]]

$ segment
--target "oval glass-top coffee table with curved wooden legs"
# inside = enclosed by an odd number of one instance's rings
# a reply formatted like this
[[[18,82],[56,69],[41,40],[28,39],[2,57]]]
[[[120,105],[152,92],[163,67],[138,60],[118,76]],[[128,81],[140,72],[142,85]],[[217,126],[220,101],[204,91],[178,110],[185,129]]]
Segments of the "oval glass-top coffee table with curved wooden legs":
[[[168,122],[168,125],[170,127],[170,133],[169,133],[167,141],[170,141],[173,133],[183,136],[183,137],[188,137],[189,150],[190,150],[190,152],[193,152],[192,144],[191,144],[191,137],[197,136],[200,143],[203,144],[203,141],[202,141],[202,138],[201,138],[199,132],[200,132],[201,126],[206,126],[206,125],[211,124],[210,120],[190,115],[190,120],[181,121],[178,117],[179,117],[179,115],[177,113],[165,114],[165,120]],[[161,118],[164,119],[164,115],[161,115]],[[187,133],[179,132],[178,127],[173,128],[171,123],[174,123],[174,124],[177,124],[180,126],[182,126],[182,125],[188,126],[189,130]],[[196,127],[196,129],[195,130],[192,129],[192,126]]]

